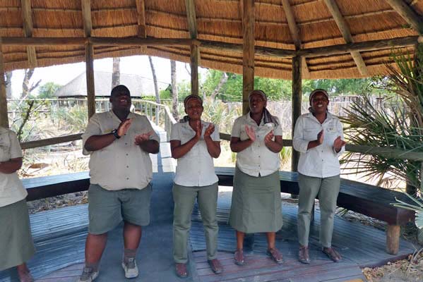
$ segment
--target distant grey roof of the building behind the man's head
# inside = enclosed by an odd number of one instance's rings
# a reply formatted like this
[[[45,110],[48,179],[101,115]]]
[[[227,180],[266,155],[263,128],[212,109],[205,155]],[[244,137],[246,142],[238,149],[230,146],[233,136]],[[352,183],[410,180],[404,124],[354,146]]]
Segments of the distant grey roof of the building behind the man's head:
[[[112,73],[104,71],[94,72],[95,96],[109,97],[112,91]],[[132,75],[121,73],[120,83],[129,88],[131,97],[154,96],[154,84],[150,78],[144,78],[141,75]],[[168,83],[157,82],[159,90],[165,90],[169,87]],[[87,78],[85,73],[81,73],[71,82],[62,86],[54,93],[54,96],[65,97],[86,97],[87,96]]]

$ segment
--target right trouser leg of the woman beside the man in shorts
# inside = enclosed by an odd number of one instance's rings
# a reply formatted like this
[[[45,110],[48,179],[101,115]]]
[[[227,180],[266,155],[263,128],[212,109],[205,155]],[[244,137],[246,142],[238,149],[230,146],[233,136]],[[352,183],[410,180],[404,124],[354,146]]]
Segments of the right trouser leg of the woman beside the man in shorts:
[[[218,207],[218,183],[210,185],[208,188],[198,190],[198,209],[203,220],[205,243],[207,246],[207,259],[218,257],[218,233],[219,226],[216,219],[216,209]]]

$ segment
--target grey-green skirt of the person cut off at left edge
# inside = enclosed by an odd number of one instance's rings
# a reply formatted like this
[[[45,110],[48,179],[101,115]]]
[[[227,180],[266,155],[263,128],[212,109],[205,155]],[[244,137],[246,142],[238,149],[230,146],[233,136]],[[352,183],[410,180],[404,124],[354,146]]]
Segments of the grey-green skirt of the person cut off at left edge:
[[[0,271],[23,264],[35,253],[26,201],[0,207]]]

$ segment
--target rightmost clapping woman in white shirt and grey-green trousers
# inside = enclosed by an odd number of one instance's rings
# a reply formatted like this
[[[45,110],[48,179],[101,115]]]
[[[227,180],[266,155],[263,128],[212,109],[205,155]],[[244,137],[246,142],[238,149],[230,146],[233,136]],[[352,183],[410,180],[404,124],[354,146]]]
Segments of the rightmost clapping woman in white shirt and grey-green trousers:
[[[300,152],[298,164],[298,259],[310,263],[309,230],[311,209],[318,195],[321,211],[320,243],[322,251],[333,262],[341,256],[331,246],[333,216],[340,189],[338,156],[344,151],[342,123],[328,112],[329,97],[325,90],[317,89],[309,97],[308,114],[297,119],[293,147]]]

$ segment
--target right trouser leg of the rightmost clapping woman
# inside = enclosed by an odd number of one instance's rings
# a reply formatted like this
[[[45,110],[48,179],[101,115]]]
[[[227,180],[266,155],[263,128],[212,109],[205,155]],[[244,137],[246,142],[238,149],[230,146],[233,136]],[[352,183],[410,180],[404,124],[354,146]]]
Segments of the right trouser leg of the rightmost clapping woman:
[[[336,199],[340,189],[340,176],[322,178],[318,192],[320,205],[320,243],[323,247],[332,245],[333,216],[335,216]]]

